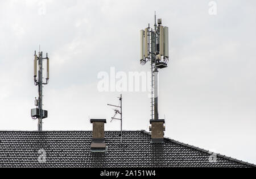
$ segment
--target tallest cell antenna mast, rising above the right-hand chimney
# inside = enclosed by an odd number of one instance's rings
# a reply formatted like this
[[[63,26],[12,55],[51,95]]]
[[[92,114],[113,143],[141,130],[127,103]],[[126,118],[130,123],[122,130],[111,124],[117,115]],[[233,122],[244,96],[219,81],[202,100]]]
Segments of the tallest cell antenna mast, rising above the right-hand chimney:
[[[155,14],[154,28],[150,24],[140,31],[141,65],[148,61],[151,66],[151,119],[158,120],[158,73],[166,68],[169,61],[168,27],[162,26],[162,19],[157,20]]]

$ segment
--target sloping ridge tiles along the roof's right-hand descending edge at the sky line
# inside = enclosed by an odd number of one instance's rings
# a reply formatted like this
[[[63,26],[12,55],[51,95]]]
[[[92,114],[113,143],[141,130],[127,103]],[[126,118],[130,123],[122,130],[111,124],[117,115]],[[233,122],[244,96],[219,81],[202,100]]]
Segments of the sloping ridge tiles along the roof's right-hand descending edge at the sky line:
[[[145,130],[142,130],[144,132],[144,134],[147,134],[147,135],[150,135],[151,136],[151,132],[147,132]],[[205,152],[205,153],[214,153],[214,152],[210,152],[210,151],[207,151],[206,149],[203,149],[203,148],[199,148],[199,147],[196,147],[196,146],[193,146],[193,145],[189,145],[189,144],[185,144],[185,143],[182,143],[180,141],[177,141],[177,140],[174,140],[174,139],[171,139],[171,138],[167,138],[167,137],[164,137],[164,139],[167,139],[167,140],[170,140],[176,144],[180,144],[180,145],[183,145],[185,147],[189,147],[189,148],[193,148],[193,149],[197,149],[201,152]],[[228,159],[228,160],[232,160],[232,161],[236,161],[237,163],[241,163],[241,164],[245,164],[245,165],[249,165],[249,166],[254,166],[256,167],[255,164],[251,164],[251,163],[247,163],[245,161],[242,161],[242,160],[238,160],[238,159],[234,159],[232,157],[228,157],[228,156],[225,156],[225,155],[221,155],[220,153],[216,153],[216,155],[218,157],[222,157],[224,159]]]

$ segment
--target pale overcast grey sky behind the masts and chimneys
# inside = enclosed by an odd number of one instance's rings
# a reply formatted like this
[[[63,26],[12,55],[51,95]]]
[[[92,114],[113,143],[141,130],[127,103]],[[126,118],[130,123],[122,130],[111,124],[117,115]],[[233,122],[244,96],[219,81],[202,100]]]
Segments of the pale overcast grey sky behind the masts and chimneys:
[[[209,2],[1,0],[0,130],[37,130],[39,44],[51,60],[43,130],[92,130],[89,118],[119,130],[107,103],[118,105],[120,93],[98,91],[98,73],[150,70],[139,64],[139,30],[156,10],[170,31],[171,60],[159,72],[165,135],[256,164],[256,2],[214,1],[216,15]],[[122,94],[123,128],[148,131],[148,92]]]

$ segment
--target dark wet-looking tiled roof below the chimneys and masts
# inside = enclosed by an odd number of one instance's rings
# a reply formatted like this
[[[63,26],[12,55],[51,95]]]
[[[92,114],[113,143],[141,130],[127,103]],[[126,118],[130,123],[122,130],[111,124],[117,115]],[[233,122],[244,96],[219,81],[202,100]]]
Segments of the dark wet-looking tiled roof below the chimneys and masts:
[[[105,153],[90,151],[92,131],[0,131],[0,167],[255,167],[146,131],[106,131]],[[46,163],[39,163],[42,149]],[[42,159],[42,157],[40,158]],[[210,159],[212,159],[210,157]]]

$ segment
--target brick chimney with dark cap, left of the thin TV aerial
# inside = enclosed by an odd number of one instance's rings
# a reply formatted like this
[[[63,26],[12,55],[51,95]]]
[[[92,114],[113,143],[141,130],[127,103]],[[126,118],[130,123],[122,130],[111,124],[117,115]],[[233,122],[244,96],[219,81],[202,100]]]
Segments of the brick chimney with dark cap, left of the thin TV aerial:
[[[106,119],[90,119],[93,124],[92,144],[90,145],[92,152],[105,152],[106,143],[104,135],[104,124]]]

